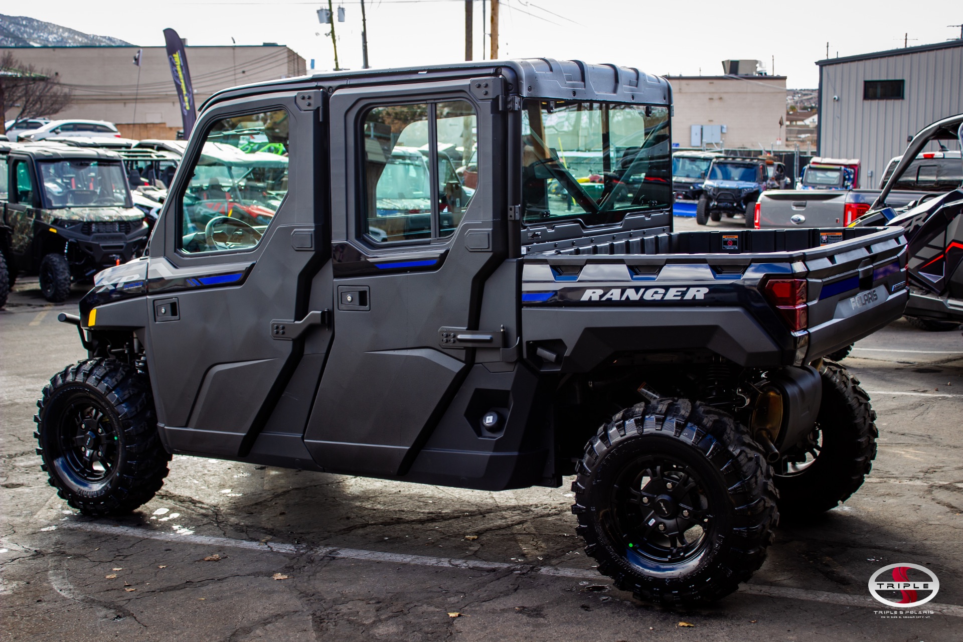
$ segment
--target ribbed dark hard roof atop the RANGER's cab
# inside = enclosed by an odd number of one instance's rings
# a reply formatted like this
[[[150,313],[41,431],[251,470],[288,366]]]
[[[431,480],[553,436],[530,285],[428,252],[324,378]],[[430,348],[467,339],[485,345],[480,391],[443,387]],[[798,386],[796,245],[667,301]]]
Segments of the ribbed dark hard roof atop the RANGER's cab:
[[[558,100],[625,102],[645,105],[670,105],[672,89],[668,82],[635,67],[616,64],[587,64],[532,58],[510,61],[433,64],[421,67],[334,71],[311,76],[254,83],[214,93],[200,106],[232,98],[273,91],[334,90],[369,85],[423,83],[426,80],[452,80],[486,76],[505,76],[509,93]]]

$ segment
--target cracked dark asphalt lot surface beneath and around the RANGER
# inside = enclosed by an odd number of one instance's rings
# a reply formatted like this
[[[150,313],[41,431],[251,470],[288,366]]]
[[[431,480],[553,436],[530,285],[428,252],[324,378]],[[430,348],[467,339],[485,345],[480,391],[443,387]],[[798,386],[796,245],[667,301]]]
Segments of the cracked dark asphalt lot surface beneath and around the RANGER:
[[[896,321],[860,342],[844,364],[879,414],[867,483],[780,526],[736,594],[670,610],[595,574],[569,480],[488,493],[175,456],[134,514],[76,514],[39,470],[32,418],[45,381],[85,357],[56,321],[80,295],[52,306],[24,278],[0,311],[0,640],[959,639],[959,330]],[[937,575],[940,609],[874,612],[867,582],[897,562]]]

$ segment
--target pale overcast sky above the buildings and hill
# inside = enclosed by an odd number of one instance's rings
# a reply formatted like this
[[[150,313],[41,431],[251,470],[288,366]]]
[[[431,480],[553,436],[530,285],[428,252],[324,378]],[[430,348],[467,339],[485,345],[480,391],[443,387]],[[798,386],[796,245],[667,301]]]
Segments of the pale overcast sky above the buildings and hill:
[[[475,5],[475,58],[481,47],[481,0]],[[55,22],[140,45],[163,45],[162,30],[176,29],[189,45],[277,42],[334,66],[321,2],[130,2],[130,0],[0,1],[0,13]],[[326,0],[325,0],[325,7]],[[342,67],[361,67],[358,0],[336,22]],[[372,66],[449,63],[464,58],[464,0],[366,0]],[[487,4],[490,7],[490,3]],[[875,2],[703,2],[668,0],[502,0],[500,58],[574,58],[637,66],[655,74],[718,74],[724,59],[758,59],[788,76],[790,88],[815,88],[815,61],[959,38],[960,0]],[[29,9],[29,11],[28,11]],[[487,32],[487,23],[485,24]],[[188,53],[190,61],[190,51]],[[309,63],[310,64],[310,63]]]

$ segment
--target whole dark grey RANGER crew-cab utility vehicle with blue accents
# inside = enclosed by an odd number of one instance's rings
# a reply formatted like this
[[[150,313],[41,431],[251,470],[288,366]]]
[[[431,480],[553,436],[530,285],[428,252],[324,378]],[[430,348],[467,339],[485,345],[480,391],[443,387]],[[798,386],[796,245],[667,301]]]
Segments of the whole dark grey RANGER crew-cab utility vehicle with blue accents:
[[[575,475],[618,586],[731,593],[780,511],[870,472],[869,398],[822,356],[902,313],[904,244],[673,233],[670,110],[663,78],[547,59],[215,94],[149,257],[64,316],[90,358],[39,399],[50,482],[97,516],[150,500],[172,453],[491,491]],[[252,138],[287,165],[227,198],[202,150],[240,165]],[[452,146],[476,190],[439,171]],[[589,155],[601,183],[568,169]]]

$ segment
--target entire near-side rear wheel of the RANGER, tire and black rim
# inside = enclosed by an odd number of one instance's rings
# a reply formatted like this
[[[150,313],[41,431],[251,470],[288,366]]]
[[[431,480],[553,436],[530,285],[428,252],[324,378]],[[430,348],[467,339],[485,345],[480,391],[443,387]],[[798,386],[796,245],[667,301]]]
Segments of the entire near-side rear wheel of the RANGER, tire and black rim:
[[[592,438],[572,483],[599,573],[653,603],[709,603],[766,558],[772,471],[745,429],[688,399],[639,403]]]

